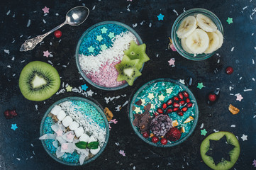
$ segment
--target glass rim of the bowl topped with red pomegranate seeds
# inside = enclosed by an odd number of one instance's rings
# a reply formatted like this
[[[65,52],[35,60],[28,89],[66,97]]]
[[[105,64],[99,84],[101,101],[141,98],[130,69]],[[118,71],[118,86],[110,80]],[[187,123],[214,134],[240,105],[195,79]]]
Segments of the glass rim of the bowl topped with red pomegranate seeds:
[[[179,140],[178,142],[174,142],[172,144],[167,144],[167,145],[160,145],[160,144],[155,144],[153,142],[150,142],[149,140],[145,139],[145,137],[143,137],[143,135],[140,134],[140,132],[138,132],[137,128],[135,128],[135,126],[133,125],[133,105],[135,103],[135,99],[137,98],[138,94],[140,94],[141,91],[143,91],[145,89],[146,86],[159,82],[159,81],[167,81],[167,82],[171,82],[173,84],[177,84],[179,86],[182,86],[182,89],[184,89],[185,91],[188,91],[189,96],[191,97],[191,99],[194,101],[194,107],[195,107],[195,112],[194,112],[194,123],[191,126],[191,129],[189,130],[189,132],[187,133],[186,136],[184,136],[182,138],[182,140]],[[180,83],[179,81],[176,81],[174,79],[168,79],[168,78],[160,78],[160,79],[154,79],[152,81],[148,81],[147,83],[143,84],[143,86],[140,87],[140,89],[138,89],[138,91],[135,92],[135,94],[133,95],[132,100],[130,101],[130,106],[128,107],[128,117],[130,120],[130,125],[132,126],[133,130],[135,131],[135,134],[140,137],[141,140],[143,140],[144,142],[148,143],[149,145],[152,145],[154,147],[174,147],[176,145],[181,144],[182,142],[184,142],[185,140],[187,140],[187,138],[189,138],[189,136],[194,132],[194,129],[196,128],[197,122],[198,122],[198,118],[199,118],[199,108],[197,105],[197,101],[196,98],[194,97],[194,94],[190,91],[190,89],[185,86],[184,84]]]

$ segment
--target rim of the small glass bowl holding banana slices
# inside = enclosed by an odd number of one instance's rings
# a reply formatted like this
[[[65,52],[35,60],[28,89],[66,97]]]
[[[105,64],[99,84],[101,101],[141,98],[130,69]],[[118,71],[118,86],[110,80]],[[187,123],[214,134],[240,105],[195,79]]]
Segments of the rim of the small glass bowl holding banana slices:
[[[216,24],[218,30],[222,33],[222,35],[224,36],[224,32],[223,32],[223,26],[221,23],[221,20],[218,18],[218,16],[216,16],[215,13],[209,11],[208,9],[205,8],[191,8],[187,11],[185,11],[184,13],[181,13],[176,20],[174,21],[174,24],[172,25],[172,31],[171,31],[171,37],[172,37],[172,42],[173,45],[175,47],[175,49],[177,50],[177,52],[179,53],[179,55],[182,55],[182,57],[187,58],[188,60],[192,60],[192,61],[201,61],[201,60],[206,60],[209,57],[213,56],[216,54],[216,52],[218,50],[215,50],[214,52],[212,52],[211,54],[199,54],[199,57],[194,57],[194,54],[190,54],[186,51],[184,51],[181,47],[181,45],[177,45],[177,41],[179,40],[179,38],[177,38],[176,35],[176,30],[179,28],[177,27],[179,25],[179,23],[187,16],[189,16],[191,13],[204,13],[206,14],[206,16],[208,16],[209,18],[211,18],[211,20]],[[179,44],[179,43],[178,43]],[[181,50],[182,49],[182,50]]]

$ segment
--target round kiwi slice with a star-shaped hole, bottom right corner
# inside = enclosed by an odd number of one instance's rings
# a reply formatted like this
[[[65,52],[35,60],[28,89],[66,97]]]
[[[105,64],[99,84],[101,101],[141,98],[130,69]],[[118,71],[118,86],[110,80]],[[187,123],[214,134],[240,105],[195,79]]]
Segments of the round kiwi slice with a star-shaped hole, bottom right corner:
[[[240,145],[231,132],[215,132],[208,135],[200,147],[204,163],[211,169],[230,169],[238,160]]]

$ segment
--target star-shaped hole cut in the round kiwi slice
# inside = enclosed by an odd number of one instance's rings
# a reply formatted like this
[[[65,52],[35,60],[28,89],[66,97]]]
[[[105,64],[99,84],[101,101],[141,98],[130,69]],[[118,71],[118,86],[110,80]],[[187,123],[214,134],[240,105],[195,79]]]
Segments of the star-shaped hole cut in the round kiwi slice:
[[[219,162],[223,162],[224,159],[230,161],[229,152],[234,147],[228,144],[226,135],[224,135],[220,140],[210,140],[210,149],[206,152],[206,155],[212,157],[214,163],[217,165]]]

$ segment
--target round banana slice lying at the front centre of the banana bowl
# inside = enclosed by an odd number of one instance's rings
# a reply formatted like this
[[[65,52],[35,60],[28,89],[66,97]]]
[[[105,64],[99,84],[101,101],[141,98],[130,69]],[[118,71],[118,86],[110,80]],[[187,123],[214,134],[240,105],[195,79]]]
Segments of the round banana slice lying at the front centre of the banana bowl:
[[[186,45],[194,54],[202,54],[209,45],[209,38],[204,30],[197,28],[186,40]]]

